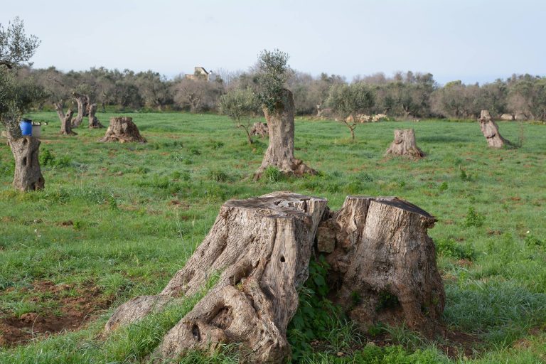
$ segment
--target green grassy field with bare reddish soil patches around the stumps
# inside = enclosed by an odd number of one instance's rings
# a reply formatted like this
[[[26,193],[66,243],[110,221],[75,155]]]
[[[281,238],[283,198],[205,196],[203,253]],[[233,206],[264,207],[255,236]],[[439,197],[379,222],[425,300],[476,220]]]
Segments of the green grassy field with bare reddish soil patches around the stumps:
[[[324,302],[304,299],[289,327],[303,363],[543,363],[546,360],[546,127],[499,123],[518,149],[490,150],[477,122],[362,124],[357,140],[333,121],[296,120],[296,156],[319,176],[253,182],[267,140],[253,146],[227,117],[132,114],[147,144],[97,143],[105,129],[41,146],[45,190],[11,188],[0,145],[0,363],[141,363],[196,297],[102,336],[113,309],[156,294],[180,269],[229,198],[272,191],[398,196],[436,216],[448,338],[404,327],[361,332]],[[105,123],[112,114],[98,114]],[[87,122],[87,120],[85,120]],[[414,128],[422,161],[385,159],[393,130]],[[320,274],[320,269],[314,272]],[[309,305],[319,304],[319,307]],[[60,331],[45,337],[45,331]],[[68,331],[68,332],[67,332]],[[23,341],[20,343],[19,341]],[[180,363],[237,363],[232,348]]]

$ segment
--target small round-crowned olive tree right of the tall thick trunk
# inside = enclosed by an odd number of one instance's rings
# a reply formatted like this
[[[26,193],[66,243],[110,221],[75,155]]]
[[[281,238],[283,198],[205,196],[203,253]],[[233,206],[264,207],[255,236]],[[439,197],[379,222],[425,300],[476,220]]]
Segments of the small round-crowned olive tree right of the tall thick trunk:
[[[350,85],[333,85],[328,96],[328,105],[341,117],[341,122],[350,130],[350,137],[355,140],[358,114],[368,112],[374,105],[375,93],[364,82]]]

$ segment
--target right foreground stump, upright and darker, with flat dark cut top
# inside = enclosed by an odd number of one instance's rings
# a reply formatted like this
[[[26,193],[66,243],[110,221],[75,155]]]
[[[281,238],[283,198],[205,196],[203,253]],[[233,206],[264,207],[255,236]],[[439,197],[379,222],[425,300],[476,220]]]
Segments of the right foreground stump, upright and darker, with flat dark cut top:
[[[348,196],[321,223],[319,251],[331,266],[333,301],[350,319],[407,325],[428,337],[442,333],[444,287],[427,230],[436,220],[398,198]]]

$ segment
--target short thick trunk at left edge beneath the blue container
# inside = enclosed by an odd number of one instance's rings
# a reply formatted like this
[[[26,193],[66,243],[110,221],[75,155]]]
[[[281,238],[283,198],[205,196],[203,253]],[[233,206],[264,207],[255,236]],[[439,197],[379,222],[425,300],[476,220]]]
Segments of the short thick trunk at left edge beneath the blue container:
[[[15,159],[14,188],[20,191],[43,189],[45,180],[38,159],[40,140],[31,136],[9,137],[8,143]]]

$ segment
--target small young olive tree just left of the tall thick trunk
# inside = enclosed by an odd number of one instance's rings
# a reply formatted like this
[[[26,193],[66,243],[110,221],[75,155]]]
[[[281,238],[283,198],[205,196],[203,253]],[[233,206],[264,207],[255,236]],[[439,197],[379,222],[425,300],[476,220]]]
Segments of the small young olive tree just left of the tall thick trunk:
[[[252,144],[250,137],[251,116],[257,109],[257,97],[250,89],[234,89],[220,97],[220,112],[228,115],[235,127],[244,129],[247,133],[248,144]]]

